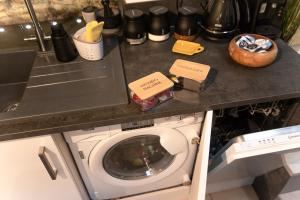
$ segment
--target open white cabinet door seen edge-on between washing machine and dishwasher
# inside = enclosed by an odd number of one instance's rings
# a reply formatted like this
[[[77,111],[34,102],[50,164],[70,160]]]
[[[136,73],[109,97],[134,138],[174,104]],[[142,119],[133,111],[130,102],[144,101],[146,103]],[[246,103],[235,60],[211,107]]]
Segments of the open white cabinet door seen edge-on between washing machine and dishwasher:
[[[213,111],[208,111],[200,136],[199,150],[190,191],[191,200],[205,200],[212,118]]]

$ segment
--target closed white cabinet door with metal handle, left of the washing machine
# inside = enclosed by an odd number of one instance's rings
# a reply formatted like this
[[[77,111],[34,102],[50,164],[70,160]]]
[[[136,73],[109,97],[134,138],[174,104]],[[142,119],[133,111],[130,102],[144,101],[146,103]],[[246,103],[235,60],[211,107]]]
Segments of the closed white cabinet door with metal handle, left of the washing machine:
[[[51,136],[0,142],[0,177],[3,200],[81,199]]]

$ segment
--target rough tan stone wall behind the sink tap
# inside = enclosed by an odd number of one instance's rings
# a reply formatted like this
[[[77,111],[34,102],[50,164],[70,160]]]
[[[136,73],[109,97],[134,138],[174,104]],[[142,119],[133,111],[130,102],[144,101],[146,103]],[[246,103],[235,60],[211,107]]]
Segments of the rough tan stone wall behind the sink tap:
[[[111,0],[117,5],[117,0]],[[78,15],[87,5],[101,7],[100,0],[32,0],[33,7],[40,21],[64,19]],[[29,22],[30,17],[24,0],[0,0],[0,25]]]

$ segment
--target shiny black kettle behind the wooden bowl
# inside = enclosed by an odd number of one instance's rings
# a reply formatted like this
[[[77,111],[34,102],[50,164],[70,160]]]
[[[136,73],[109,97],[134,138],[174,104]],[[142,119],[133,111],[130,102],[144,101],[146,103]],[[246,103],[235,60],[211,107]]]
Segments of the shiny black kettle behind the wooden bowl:
[[[208,0],[202,7],[205,13],[201,28],[204,36],[211,40],[231,39],[239,32],[240,23],[251,20],[247,0]]]

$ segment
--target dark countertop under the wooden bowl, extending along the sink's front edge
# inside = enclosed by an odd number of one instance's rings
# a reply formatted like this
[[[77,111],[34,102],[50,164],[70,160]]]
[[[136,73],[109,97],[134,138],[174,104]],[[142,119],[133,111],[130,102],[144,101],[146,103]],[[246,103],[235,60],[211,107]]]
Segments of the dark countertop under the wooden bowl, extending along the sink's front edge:
[[[155,71],[167,74],[172,63],[181,58],[208,64],[213,68],[214,78],[199,94],[176,92],[174,99],[148,112],[141,112],[130,103],[106,108],[84,105],[76,110],[66,107],[56,112],[22,117],[2,115],[0,140],[300,97],[300,56],[282,40],[276,41],[279,47],[276,61],[260,69],[249,69],[234,63],[228,56],[227,43],[214,43],[199,38],[198,42],[206,50],[189,57],[172,53],[174,42],[172,38],[162,43],[147,41],[138,46],[121,42],[127,82]],[[86,98],[94,97],[91,93],[88,95]],[[54,103],[55,99],[48,99],[48,104],[51,102]],[[80,107],[80,102],[75,103]]]

